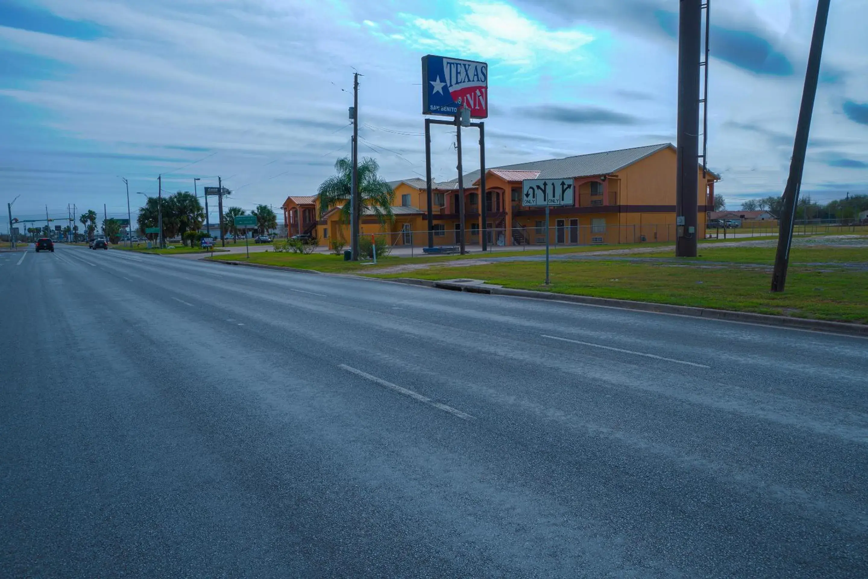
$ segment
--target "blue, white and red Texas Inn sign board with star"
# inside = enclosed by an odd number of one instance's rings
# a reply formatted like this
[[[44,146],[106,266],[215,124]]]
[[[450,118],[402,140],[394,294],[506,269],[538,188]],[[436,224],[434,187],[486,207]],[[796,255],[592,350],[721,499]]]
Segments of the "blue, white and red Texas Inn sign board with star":
[[[454,116],[458,106],[488,118],[488,63],[445,56],[422,57],[422,114]]]

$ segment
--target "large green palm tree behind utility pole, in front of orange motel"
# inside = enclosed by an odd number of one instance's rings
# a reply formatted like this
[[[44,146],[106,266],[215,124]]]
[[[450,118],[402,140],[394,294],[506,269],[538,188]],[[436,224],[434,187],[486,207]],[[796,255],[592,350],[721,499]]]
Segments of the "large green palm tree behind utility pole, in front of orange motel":
[[[350,222],[350,192],[352,191],[352,162],[344,157],[335,161],[338,174],[329,177],[319,185],[320,217],[332,207],[341,206],[340,217],[344,223]],[[377,174],[379,165],[371,157],[365,157],[358,164],[358,197],[362,207],[370,207],[380,223],[394,220],[391,211],[391,196],[394,192],[389,183]]]

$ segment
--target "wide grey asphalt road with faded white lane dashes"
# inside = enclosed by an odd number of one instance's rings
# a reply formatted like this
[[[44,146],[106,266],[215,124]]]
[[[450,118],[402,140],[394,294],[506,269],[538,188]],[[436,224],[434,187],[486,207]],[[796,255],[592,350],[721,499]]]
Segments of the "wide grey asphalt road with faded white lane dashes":
[[[0,254],[0,575],[865,577],[868,340]]]

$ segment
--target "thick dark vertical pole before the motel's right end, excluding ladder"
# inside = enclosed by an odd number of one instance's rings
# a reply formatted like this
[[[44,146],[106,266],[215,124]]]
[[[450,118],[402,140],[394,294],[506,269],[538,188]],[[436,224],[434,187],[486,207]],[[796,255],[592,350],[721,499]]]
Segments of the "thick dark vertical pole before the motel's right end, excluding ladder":
[[[696,257],[701,31],[702,0],[681,0],[678,22],[678,161],[675,182],[677,257]]]

